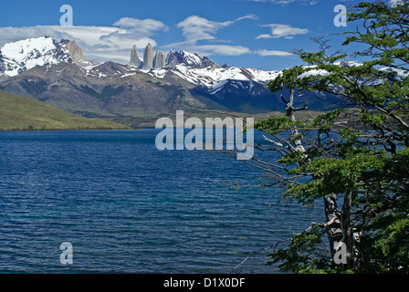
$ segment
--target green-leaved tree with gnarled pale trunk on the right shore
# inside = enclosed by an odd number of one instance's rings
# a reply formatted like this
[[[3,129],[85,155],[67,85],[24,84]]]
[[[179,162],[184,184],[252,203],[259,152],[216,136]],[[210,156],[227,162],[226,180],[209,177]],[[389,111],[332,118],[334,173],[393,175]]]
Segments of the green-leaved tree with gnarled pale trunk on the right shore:
[[[348,56],[329,55],[327,49],[304,52],[300,57],[308,66],[284,70],[267,84],[273,92],[328,92],[355,109],[340,106],[308,123],[276,117],[255,125],[269,135],[273,146],[268,151],[281,153],[278,164],[269,165],[286,186],[284,195],[304,204],[323,197],[343,199],[333,214],[348,219],[349,225],[339,226],[343,236],[351,237],[348,228],[354,233],[353,261],[335,265],[333,247],[322,248],[327,242],[323,235],[334,223],[312,224],[293,236],[287,248],[269,255],[284,272],[409,272],[409,78],[396,74],[409,66],[408,16],[406,3],[355,5],[349,21],[361,24],[362,32],[347,36],[342,45],[366,47],[356,53],[362,65],[349,66],[342,61]]]

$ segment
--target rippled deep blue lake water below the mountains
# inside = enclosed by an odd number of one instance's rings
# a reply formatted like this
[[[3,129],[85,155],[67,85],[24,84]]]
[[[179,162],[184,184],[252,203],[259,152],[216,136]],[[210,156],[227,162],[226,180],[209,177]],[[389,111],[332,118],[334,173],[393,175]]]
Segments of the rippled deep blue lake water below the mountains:
[[[277,191],[223,184],[257,183],[244,162],[158,151],[158,132],[0,132],[0,273],[231,273],[322,221]],[[235,272],[278,273],[267,254]]]

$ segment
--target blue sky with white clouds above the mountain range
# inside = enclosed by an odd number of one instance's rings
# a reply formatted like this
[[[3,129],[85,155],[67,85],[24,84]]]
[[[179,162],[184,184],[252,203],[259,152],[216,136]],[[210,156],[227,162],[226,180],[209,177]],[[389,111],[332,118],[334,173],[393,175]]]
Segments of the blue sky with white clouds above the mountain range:
[[[274,70],[301,64],[294,48],[317,50],[310,37],[353,30],[334,25],[335,5],[345,0],[81,0],[3,1],[0,46],[49,35],[75,39],[89,59],[127,63],[131,46],[140,57],[148,42],[208,56],[219,64]],[[73,27],[60,24],[61,5],[71,5]],[[340,36],[329,36],[339,47]]]

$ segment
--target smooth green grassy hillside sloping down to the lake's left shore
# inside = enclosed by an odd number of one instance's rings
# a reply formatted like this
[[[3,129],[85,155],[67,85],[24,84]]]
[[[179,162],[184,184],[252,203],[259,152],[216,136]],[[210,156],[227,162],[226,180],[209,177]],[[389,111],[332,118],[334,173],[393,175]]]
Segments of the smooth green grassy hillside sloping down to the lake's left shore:
[[[0,90],[0,130],[125,130],[110,120],[87,119],[47,103]]]

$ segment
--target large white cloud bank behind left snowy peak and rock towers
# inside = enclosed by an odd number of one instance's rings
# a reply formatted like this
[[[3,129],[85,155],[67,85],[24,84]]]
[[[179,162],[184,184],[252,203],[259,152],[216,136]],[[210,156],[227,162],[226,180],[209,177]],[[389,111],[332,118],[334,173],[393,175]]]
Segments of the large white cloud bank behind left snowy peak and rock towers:
[[[75,40],[88,59],[106,60],[107,58],[127,63],[131,56],[131,47],[146,47],[157,43],[151,36],[166,32],[169,27],[153,19],[124,17],[113,26],[26,26],[0,27],[0,47],[16,40],[51,36],[54,39]]]

